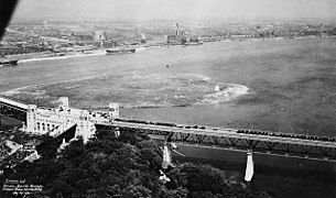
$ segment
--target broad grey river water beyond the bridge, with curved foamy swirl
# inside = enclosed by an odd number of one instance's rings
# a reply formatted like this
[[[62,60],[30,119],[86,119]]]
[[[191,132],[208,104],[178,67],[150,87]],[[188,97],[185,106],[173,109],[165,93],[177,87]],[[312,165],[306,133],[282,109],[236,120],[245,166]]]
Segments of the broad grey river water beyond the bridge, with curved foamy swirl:
[[[335,136],[335,44],[221,42],[26,62],[0,68],[0,92],[41,106],[67,96],[93,110],[119,102],[121,117],[141,120]],[[300,183],[291,180],[304,191]]]

